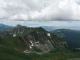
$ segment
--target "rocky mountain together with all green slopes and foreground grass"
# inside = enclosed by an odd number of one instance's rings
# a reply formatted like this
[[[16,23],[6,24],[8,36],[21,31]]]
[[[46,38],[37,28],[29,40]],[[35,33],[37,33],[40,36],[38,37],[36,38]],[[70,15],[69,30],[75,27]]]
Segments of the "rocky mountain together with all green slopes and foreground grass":
[[[26,51],[27,52],[24,52]],[[17,27],[0,31],[0,60],[67,60],[80,58],[80,51],[68,48],[63,35],[43,28]]]

